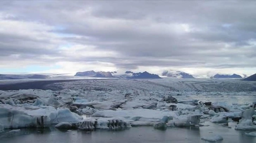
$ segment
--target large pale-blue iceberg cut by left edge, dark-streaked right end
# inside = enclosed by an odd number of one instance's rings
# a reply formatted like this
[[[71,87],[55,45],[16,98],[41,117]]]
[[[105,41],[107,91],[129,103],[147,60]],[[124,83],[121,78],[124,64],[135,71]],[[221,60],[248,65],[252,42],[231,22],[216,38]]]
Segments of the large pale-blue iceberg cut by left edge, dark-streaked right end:
[[[5,129],[35,127],[44,128],[50,125],[48,116],[30,116],[23,111],[0,107],[0,124]]]

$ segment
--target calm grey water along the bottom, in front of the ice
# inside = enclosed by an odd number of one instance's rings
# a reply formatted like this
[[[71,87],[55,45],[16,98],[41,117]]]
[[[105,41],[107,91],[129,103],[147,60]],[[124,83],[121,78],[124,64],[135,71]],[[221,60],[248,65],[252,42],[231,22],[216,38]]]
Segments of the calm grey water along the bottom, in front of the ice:
[[[244,132],[227,128],[219,124],[206,122],[205,127],[167,128],[156,130],[153,127],[133,127],[125,130],[96,130],[92,132],[49,129],[21,129],[21,132],[9,135],[0,134],[1,143],[206,143],[201,137],[219,134],[221,143],[256,143],[256,137],[244,135]]]

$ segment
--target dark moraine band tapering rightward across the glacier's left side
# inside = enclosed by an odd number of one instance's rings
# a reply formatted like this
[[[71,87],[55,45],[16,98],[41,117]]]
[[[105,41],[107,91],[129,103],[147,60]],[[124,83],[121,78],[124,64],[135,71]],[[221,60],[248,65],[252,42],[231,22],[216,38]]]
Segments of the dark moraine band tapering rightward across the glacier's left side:
[[[107,79],[82,79],[82,80],[107,80]],[[10,83],[0,85],[0,90],[19,90],[19,89],[42,89],[47,90],[46,85],[51,83],[81,81],[80,80],[42,80],[42,81],[25,81],[22,83]]]

